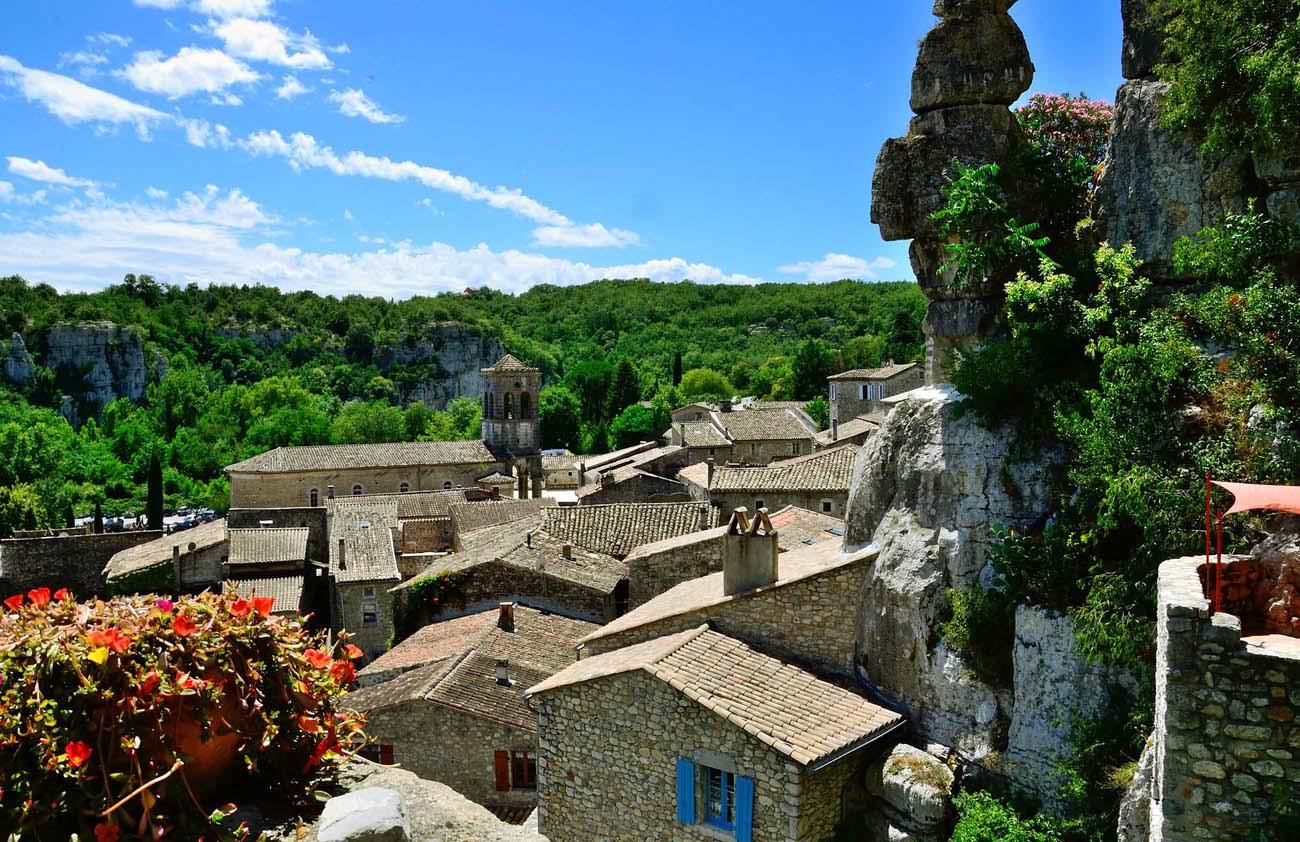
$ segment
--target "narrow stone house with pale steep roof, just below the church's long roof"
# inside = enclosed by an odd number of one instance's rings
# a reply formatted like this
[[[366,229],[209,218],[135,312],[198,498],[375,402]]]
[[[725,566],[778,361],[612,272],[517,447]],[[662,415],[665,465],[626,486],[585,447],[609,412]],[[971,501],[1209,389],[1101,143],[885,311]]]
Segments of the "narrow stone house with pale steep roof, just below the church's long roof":
[[[396,530],[398,505],[393,500],[330,500],[330,629],[355,634],[354,643],[368,659],[382,655],[393,637],[387,591],[402,581]]]

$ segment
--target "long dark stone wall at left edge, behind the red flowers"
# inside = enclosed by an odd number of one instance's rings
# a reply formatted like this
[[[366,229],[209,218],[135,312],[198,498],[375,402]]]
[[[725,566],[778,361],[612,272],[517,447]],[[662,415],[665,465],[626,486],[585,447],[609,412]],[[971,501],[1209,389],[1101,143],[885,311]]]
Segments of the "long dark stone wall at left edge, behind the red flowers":
[[[121,550],[160,538],[157,530],[6,538],[0,541],[0,593],[68,587],[77,596],[104,595],[104,565]]]

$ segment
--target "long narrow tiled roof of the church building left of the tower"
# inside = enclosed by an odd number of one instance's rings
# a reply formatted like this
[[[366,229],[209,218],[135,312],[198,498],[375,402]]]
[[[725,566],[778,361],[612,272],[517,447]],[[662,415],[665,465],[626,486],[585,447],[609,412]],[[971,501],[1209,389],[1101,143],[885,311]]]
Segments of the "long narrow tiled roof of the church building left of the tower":
[[[393,442],[386,444],[311,444],[277,447],[228,465],[230,473],[286,473],[296,470],[350,470],[407,465],[469,465],[494,463],[480,440]]]

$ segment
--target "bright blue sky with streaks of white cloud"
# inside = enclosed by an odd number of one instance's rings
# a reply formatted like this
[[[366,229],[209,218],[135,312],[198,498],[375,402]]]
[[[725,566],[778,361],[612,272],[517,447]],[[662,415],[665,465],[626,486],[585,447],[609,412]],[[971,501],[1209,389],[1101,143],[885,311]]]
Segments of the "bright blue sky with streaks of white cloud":
[[[42,0],[0,10],[0,274],[404,298],[909,278],[868,221],[928,0]],[[1119,4],[1023,0],[1112,99]]]

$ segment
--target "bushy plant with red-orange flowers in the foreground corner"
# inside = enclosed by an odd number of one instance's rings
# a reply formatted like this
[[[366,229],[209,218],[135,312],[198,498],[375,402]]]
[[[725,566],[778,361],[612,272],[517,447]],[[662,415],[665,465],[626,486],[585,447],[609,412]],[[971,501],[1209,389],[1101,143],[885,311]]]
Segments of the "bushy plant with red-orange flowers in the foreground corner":
[[[304,794],[360,745],[335,702],[361,652],[329,651],[272,607],[216,594],[78,603],[44,587],[5,599],[0,828],[238,837],[212,824],[230,793]]]

